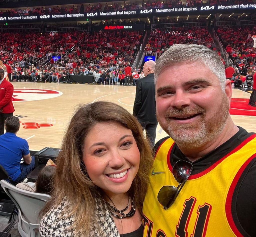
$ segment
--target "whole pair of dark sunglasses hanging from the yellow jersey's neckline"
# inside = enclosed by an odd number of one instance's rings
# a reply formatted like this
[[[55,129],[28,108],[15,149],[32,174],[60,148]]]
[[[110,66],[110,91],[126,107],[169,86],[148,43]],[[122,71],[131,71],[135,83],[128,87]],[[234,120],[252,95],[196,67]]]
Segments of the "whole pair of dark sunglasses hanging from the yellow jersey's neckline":
[[[165,210],[172,206],[192,170],[193,164],[188,161],[179,160],[174,164],[172,174],[176,181],[179,183],[178,187],[163,186],[157,195],[158,202],[164,206]]]

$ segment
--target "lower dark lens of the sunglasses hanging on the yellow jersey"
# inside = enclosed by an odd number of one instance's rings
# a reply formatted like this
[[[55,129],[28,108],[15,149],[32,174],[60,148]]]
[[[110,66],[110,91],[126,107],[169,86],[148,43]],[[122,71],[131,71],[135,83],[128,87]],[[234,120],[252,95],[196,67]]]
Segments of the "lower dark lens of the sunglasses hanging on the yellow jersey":
[[[174,203],[178,195],[178,189],[175,186],[163,186],[158,192],[157,199],[164,209],[169,208]]]

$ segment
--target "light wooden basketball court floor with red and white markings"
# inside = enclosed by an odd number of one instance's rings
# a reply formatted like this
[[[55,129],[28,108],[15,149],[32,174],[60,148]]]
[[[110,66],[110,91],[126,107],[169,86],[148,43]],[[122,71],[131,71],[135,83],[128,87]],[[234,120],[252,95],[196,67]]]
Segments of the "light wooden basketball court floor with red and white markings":
[[[74,108],[81,103],[111,101],[132,113],[136,87],[12,82],[14,115],[19,117],[19,137],[30,150],[59,148]],[[250,93],[233,89],[230,113],[236,125],[256,132],[256,107],[248,105]],[[156,141],[167,136],[158,125]]]

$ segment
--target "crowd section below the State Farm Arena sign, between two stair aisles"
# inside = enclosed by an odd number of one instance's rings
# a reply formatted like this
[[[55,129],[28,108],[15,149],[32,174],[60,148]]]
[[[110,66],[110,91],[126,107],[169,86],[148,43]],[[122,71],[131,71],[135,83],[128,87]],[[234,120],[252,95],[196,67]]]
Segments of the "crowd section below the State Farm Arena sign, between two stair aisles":
[[[80,59],[79,64],[99,67],[131,64],[142,34],[121,30],[93,32],[69,58]]]

